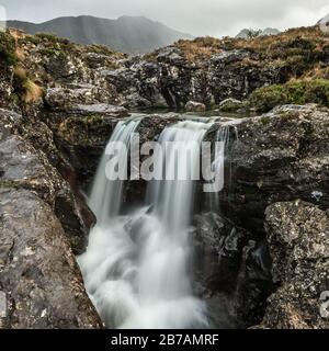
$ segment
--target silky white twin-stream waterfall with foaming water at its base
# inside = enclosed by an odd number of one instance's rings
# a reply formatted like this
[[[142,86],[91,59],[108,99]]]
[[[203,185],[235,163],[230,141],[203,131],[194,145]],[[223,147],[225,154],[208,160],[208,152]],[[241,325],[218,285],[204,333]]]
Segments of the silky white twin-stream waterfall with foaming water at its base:
[[[118,124],[111,141],[128,144],[138,121]],[[166,128],[160,141],[201,143],[211,124],[180,122]],[[192,149],[190,170],[198,161]],[[167,160],[174,154],[169,150]],[[204,328],[204,304],[192,294],[191,219],[194,182],[154,181],[148,203],[131,217],[120,216],[123,182],[105,178],[106,157],[95,177],[90,206],[98,217],[88,250],[79,258],[86,287],[107,327]],[[172,165],[172,163],[171,163]],[[178,176],[186,165],[178,165]],[[178,177],[179,179],[179,177]]]

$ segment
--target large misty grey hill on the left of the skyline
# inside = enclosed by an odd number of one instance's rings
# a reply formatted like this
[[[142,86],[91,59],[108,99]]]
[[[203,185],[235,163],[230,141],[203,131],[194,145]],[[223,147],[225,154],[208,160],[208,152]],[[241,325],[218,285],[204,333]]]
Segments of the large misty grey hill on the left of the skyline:
[[[9,27],[29,34],[53,33],[79,44],[102,44],[127,54],[144,54],[191,35],[174,31],[144,16],[121,16],[117,20],[90,15],[58,18],[35,24],[8,21]]]

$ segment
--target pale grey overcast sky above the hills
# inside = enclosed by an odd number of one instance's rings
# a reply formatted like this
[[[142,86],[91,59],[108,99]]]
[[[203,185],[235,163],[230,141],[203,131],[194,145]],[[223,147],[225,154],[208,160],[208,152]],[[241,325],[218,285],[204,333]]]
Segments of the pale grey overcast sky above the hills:
[[[145,15],[193,35],[235,35],[243,27],[313,25],[328,0],[0,0],[8,19],[43,22],[63,15]]]

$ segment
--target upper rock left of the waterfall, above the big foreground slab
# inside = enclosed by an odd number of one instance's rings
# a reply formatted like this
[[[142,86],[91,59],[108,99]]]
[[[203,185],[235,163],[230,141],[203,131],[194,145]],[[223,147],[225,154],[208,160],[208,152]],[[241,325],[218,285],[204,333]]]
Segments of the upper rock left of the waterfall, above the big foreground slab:
[[[16,113],[1,110],[0,114],[2,122],[0,188],[26,189],[35,192],[54,208],[75,252],[82,252],[89,228],[94,223],[94,216],[73,193],[58,170],[50,165],[46,154],[39,149],[41,143],[44,144],[47,140],[45,139],[47,134],[34,133],[31,125],[30,128],[25,128],[25,118]],[[20,132],[21,135],[19,135]],[[44,150],[48,151],[48,155],[54,155],[56,159],[59,151],[54,146],[54,141],[53,146],[47,144],[47,148]]]

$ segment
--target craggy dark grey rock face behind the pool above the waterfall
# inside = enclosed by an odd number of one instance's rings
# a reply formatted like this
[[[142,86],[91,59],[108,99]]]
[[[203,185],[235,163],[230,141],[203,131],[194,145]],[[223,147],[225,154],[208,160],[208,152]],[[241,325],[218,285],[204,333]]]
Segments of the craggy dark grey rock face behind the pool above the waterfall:
[[[184,107],[190,100],[209,106],[228,98],[246,99],[254,89],[283,79],[279,66],[261,67],[260,57],[247,50],[222,52],[200,66],[189,63],[177,47],[155,55],[155,61],[139,58],[106,73],[127,106]]]

